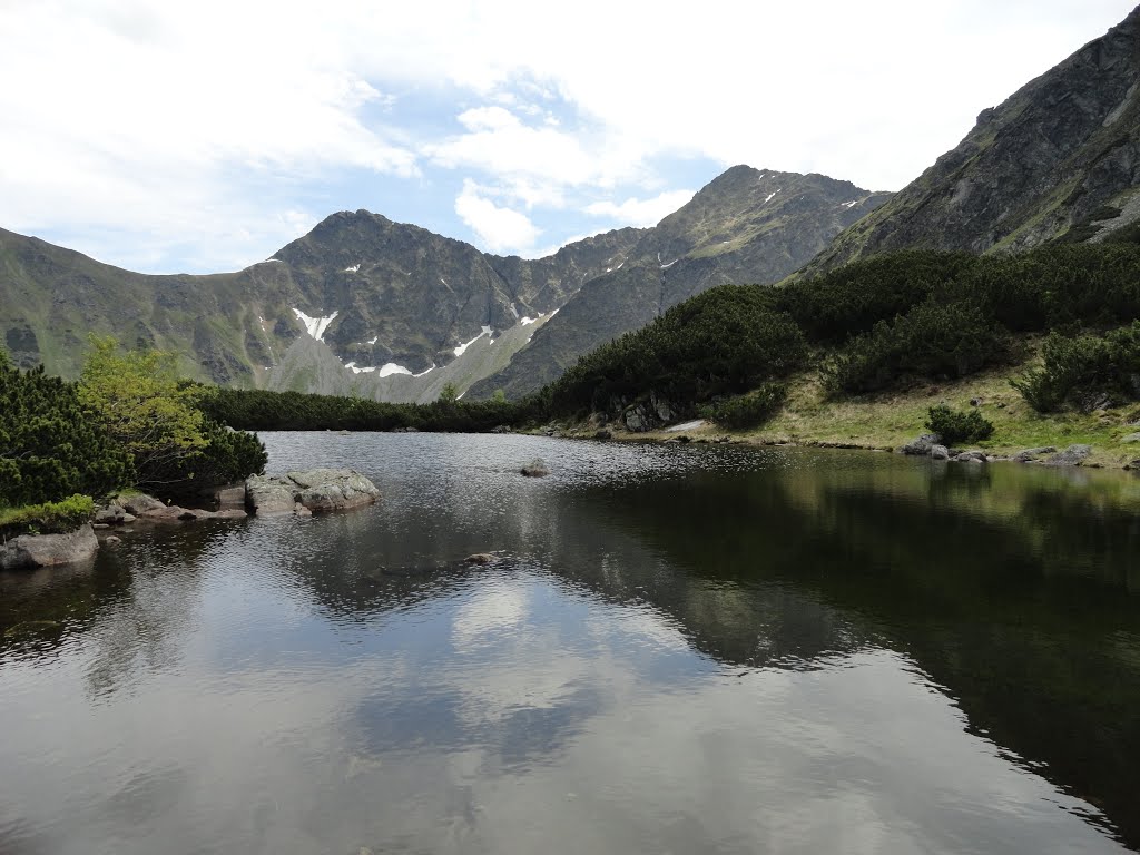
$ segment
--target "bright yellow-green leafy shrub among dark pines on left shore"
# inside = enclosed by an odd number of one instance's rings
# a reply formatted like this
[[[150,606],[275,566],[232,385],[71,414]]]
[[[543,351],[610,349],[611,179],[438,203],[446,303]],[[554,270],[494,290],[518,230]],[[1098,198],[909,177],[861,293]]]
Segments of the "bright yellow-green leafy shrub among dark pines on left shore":
[[[109,336],[90,341],[79,382],[83,406],[132,456],[139,486],[177,480],[186,458],[207,445],[199,409],[204,388],[179,383],[172,353],[121,352]]]

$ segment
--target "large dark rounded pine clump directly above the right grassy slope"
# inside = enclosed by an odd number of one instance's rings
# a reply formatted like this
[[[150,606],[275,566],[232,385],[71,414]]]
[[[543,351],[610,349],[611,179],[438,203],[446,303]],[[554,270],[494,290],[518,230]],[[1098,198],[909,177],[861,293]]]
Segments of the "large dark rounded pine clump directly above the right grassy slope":
[[[1008,335],[977,306],[927,301],[853,339],[824,366],[823,381],[832,394],[857,394],[906,377],[961,377],[1008,355]]]

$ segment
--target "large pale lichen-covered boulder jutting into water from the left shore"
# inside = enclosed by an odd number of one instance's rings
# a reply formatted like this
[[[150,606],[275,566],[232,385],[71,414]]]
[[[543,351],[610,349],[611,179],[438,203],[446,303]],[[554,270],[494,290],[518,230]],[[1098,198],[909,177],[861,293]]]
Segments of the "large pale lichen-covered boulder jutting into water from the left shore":
[[[280,475],[252,475],[245,481],[246,503],[260,516],[307,511],[348,511],[380,497],[376,484],[350,469],[310,469]]]

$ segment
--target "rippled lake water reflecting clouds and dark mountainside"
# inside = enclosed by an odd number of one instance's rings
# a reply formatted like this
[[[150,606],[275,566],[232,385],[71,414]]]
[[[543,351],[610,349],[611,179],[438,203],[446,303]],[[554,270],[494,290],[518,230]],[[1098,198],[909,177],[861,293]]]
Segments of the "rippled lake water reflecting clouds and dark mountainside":
[[[1138,479],[264,439],[383,500],[0,576],[3,855],[1140,848]]]

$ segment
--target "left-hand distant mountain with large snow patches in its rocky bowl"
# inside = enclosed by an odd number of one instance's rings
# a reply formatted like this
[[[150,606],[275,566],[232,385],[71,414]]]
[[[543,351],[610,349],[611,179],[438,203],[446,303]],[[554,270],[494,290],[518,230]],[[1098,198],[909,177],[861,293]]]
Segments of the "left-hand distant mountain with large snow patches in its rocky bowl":
[[[316,366],[307,375],[295,353],[320,340],[343,380],[355,382],[327,378],[310,391],[378,397],[394,383],[400,400],[416,400],[438,383],[410,375],[456,360],[484,335],[487,347],[499,347],[495,358],[469,358],[451,374],[466,385],[504,365],[506,351],[536,328],[528,324],[620,264],[642,234],[610,231],[527,261],[366,211],[341,212],[245,270],[147,276],[0,230],[0,335],[17,363],[66,376],[78,373],[87,334],[96,332],[172,350],[190,376],[276,388],[326,376]],[[282,365],[296,376],[275,368]],[[407,380],[378,382],[393,374]]]

